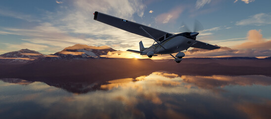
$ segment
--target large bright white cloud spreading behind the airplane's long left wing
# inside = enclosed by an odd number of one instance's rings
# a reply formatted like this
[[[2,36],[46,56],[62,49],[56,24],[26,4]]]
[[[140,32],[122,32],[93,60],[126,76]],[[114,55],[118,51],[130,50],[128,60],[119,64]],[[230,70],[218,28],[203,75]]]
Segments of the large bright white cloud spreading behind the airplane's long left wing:
[[[76,0],[73,1],[73,5],[74,9],[71,10],[60,9],[64,13],[55,14],[53,24],[60,25],[58,28],[67,33],[83,35],[88,45],[110,47],[119,45],[113,48],[127,50],[128,45],[138,46],[140,40],[147,39],[95,21],[90,15],[93,11],[99,11],[134,21],[134,14],[142,17],[144,13],[145,5],[140,0]],[[124,47],[125,45],[127,47]]]

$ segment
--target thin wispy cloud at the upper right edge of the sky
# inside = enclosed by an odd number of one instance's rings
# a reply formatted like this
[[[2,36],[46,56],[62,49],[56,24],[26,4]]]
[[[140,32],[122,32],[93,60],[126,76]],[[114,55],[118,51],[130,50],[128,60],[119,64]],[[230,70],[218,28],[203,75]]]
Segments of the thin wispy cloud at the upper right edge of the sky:
[[[235,25],[256,25],[262,26],[271,24],[271,14],[268,13],[258,13],[253,16],[250,16],[248,19],[237,21]]]

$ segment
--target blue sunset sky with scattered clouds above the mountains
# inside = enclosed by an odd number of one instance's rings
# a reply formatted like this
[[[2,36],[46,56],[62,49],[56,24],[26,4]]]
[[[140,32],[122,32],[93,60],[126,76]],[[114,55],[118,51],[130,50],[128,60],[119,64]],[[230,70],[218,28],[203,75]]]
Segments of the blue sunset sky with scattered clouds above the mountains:
[[[93,20],[94,11],[170,33],[204,30],[197,40],[226,48],[186,56],[271,56],[271,0],[0,0],[0,54],[48,55],[75,44],[138,50],[153,40]],[[111,54],[112,55],[112,54]]]

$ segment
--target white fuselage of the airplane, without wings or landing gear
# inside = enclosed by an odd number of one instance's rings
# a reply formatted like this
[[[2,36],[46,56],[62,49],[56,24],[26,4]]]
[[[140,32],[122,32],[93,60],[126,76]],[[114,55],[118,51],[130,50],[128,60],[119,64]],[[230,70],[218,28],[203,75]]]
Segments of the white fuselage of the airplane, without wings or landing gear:
[[[173,36],[161,42],[161,47],[159,44],[154,44],[151,47],[143,51],[143,53],[153,51],[154,54],[173,54],[187,50],[193,45],[195,40],[189,39],[183,36]],[[146,54],[141,54],[146,55]]]

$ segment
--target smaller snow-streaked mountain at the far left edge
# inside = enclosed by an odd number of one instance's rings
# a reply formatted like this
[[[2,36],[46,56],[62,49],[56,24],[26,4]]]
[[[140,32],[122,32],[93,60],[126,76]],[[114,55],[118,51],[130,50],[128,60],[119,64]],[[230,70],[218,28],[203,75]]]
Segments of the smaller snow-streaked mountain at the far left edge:
[[[1,63],[26,63],[30,60],[36,60],[37,58],[43,58],[44,55],[32,51],[29,49],[22,49],[19,51],[9,52],[0,55],[0,62]]]

